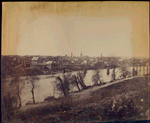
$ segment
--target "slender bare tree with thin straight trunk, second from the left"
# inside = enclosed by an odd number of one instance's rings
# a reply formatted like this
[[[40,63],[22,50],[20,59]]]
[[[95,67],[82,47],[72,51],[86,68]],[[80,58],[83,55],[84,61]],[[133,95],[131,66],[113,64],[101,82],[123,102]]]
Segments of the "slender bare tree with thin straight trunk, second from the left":
[[[32,99],[33,99],[33,103],[35,104],[35,95],[34,95],[34,90],[35,88],[37,88],[37,81],[39,80],[39,78],[35,75],[35,76],[30,76],[29,78],[29,82],[31,84],[31,94],[32,94]]]

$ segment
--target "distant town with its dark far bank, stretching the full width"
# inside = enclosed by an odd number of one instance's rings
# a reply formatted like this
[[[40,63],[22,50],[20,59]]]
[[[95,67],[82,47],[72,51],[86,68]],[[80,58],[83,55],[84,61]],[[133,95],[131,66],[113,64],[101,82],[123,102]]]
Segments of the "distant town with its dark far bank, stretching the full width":
[[[118,67],[127,66],[149,66],[149,59],[142,58],[119,58],[119,57],[88,57],[88,56],[2,56],[2,74],[12,74],[13,71],[28,73],[30,70],[38,69],[41,73],[55,73],[57,71],[75,71],[96,68],[111,68],[113,64]],[[36,69],[33,69],[36,68]],[[37,71],[38,71],[37,70]],[[27,71],[27,72],[25,72]]]

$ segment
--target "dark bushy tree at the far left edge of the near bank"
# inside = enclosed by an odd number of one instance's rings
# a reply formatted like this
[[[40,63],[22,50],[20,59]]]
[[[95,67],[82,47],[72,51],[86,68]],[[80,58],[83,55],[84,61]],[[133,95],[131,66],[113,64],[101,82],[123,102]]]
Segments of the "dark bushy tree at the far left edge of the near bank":
[[[14,110],[22,106],[21,92],[24,87],[24,81],[20,80],[19,76],[15,76],[8,82],[8,88],[2,95],[2,117],[4,120],[12,120]],[[18,104],[19,103],[19,104]]]

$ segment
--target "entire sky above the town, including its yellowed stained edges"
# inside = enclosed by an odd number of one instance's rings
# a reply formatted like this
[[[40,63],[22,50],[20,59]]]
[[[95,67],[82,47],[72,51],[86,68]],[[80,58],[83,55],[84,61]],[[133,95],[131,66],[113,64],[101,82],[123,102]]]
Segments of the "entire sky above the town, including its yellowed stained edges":
[[[147,2],[3,3],[3,10],[10,5],[4,55],[149,56]]]

